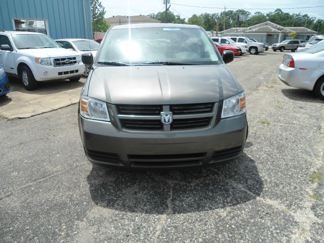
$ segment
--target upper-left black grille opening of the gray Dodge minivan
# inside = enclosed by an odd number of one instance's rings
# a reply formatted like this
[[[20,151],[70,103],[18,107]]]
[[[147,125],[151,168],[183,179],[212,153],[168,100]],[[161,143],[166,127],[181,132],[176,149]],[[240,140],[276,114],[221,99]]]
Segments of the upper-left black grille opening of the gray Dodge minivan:
[[[117,110],[122,115],[159,115],[161,105],[118,105]]]

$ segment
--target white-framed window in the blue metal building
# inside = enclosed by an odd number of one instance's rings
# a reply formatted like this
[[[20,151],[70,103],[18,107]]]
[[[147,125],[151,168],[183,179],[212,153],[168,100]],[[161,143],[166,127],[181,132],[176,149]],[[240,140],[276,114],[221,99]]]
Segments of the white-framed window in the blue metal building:
[[[48,23],[44,19],[14,19],[14,30],[48,34]]]

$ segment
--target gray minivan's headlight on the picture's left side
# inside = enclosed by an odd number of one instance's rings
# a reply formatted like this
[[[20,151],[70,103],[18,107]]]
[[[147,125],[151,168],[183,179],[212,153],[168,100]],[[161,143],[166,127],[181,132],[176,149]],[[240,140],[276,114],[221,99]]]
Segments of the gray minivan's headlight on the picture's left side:
[[[83,95],[80,99],[80,115],[89,119],[110,121],[105,102]]]

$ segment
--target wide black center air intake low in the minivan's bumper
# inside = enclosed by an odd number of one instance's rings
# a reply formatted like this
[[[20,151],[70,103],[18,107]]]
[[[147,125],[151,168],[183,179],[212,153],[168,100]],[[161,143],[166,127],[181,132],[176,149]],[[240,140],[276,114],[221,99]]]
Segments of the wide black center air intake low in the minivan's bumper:
[[[138,168],[199,166],[205,157],[206,153],[128,155],[131,166]]]

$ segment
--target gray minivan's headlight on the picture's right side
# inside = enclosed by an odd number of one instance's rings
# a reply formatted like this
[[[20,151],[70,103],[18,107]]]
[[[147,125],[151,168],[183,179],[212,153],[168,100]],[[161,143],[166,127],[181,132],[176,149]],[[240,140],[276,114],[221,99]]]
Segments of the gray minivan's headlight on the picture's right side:
[[[244,114],[245,112],[244,92],[223,101],[222,118]]]

